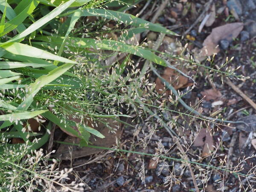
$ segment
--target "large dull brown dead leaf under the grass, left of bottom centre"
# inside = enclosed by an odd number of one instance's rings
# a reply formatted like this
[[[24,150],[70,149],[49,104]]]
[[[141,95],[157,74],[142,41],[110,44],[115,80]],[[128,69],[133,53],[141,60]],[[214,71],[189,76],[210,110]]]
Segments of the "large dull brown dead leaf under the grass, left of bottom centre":
[[[114,121],[113,119],[108,119],[107,122],[112,128],[116,128],[116,126],[119,125],[119,122]],[[116,134],[110,133],[109,128],[101,122],[98,122],[98,128],[95,129],[103,134],[105,138],[101,139],[91,134],[89,141],[92,143],[92,145],[96,145],[99,147],[111,147],[113,144],[116,143],[116,137],[119,138],[121,135],[121,128],[117,129]],[[68,136],[64,140],[64,142],[79,144],[80,139],[78,137]],[[75,159],[79,157],[84,157],[99,151],[103,151],[103,149],[61,144],[53,157],[68,160],[71,158]]]

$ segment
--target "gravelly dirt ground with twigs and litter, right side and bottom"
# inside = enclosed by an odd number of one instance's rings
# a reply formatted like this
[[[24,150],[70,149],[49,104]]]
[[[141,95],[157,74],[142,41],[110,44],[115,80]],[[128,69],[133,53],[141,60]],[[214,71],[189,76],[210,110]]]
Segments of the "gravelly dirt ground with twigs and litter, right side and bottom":
[[[188,44],[186,53],[194,55],[195,51],[204,46],[205,39],[211,34],[212,29],[223,26],[227,23],[243,23],[242,31],[237,37],[231,41],[222,39],[220,50],[215,56],[214,61],[202,61],[202,66],[214,67],[225,71],[226,67],[236,69],[237,76],[243,75],[250,77],[246,80],[238,80],[233,78],[233,85],[241,90],[248,98],[256,102],[256,1],[242,0],[243,3],[238,3],[239,0],[214,0],[207,8],[207,2],[204,0],[172,0],[164,7],[163,12],[157,17],[155,23],[160,23],[168,29],[181,35],[177,38],[182,46]],[[137,4],[136,8],[128,10],[129,13],[136,15],[143,8],[145,10],[139,17],[151,21],[160,8],[164,0],[152,0],[147,7],[146,0]],[[231,2],[231,3],[230,3]],[[215,5],[215,9],[212,6]],[[254,7],[254,6],[255,7]],[[213,17],[212,12],[215,13]],[[202,20],[210,15],[212,21],[209,21],[202,27],[201,32],[198,32]],[[197,21],[198,17],[202,17]],[[190,27],[192,27],[190,29]],[[189,29],[189,31],[187,31]],[[225,33],[223,29],[222,34]],[[152,38],[156,33],[149,33],[147,38]],[[145,38],[141,35],[141,41]],[[220,37],[221,38],[221,37]],[[165,51],[170,44],[178,44],[176,37],[165,37],[163,44],[158,49]],[[167,48],[166,48],[167,47]],[[184,53],[184,54],[186,54]],[[225,67],[223,63],[226,58],[233,58]],[[137,57],[133,58],[137,60]],[[173,59],[172,62],[179,60]],[[144,61],[143,61],[144,62]],[[140,64],[143,64],[141,61]],[[180,62],[180,64],[184,64]],[[177,64],[176,64],[177,66]],[[217,66],[217,67],[216,67]],[[181,67],[182,68],[182,67]],[[250,124],[249,130],[244,125],[231,124],[230,126],[239,128],[229,128],[227,123],[223,125],[213,126],[203,121],[200,125],[200,120],[193,116],[178,116],[178,113],[169,112],[167,116],[177,116],[177,124],[180,125],[176,131],[179,135],[180,143],[185,150],[186,156],[191,161],[196,161],[205,165],[216,166],[223,169],[239,170],[243,174],[251,174],[255,177],[255,168],[253,168],[256,157],[251,157],[255,154],[256,148],[253,147],[253,139],[256,138],[256,117],[255,108],[248,103],[248,100],[237,93],[225,77],[219,76],[218,73],[211,71],[205,67],[191,66],[183,67],[183,72],[195,79],[195,87],[182,97],[187,104],[194,105],[196,110],[200,111],[204,116],[210,116],[212,113],[218,113],[220,110],[221,116],[230,121],[243,121]],[[223,69],[223,70],[222,70]],[[164,76],[169,76],[171,72],[166,72],[165,68],[158,67],[158,72]],[[169,74],[169,75],[168,75]],[[209,76],[209,75],[212,76]],[[151,82],[156,82],[157,76],[151,74]],[[187,88],[191,89],[191,80],[180,79],[176,84],[176,89],[186,93]],[[181,82],[183,82],[182,85]],[[183,105],[170,106],[170,110],[180,110],[184,113],[189,113]],[[127,119],[122,119],[127,121]],[[131,122],[132,124],[132,122]],[[136,124],[134,124],[134,127]],[[140,131],[134,132],[136,129],[127,125],[122,125],[122,137],[119,141],[119,148],[131,151],[140,151],[148,154],[156,154],[159,152],[160,145],[163,146],[162,154],[172,158],[184,158],[182,151],[179,149],[169,133],[163,128],[157,128],[156,133],[151,135],[150,126],[142,119]],[[198,131],[198,127],[203,126],[204,130],[197,132],[198,137],[194,137],[194,132]],[[207,134],[207,126],[211,128],[211,134]],[[209,133],[209,132],[208,132]],[[55,135],[63,134],[60,130],[55,131]],[[66,136],[63,134],[63,136]],[[195,142],[191,143],[191,137]],[[59,138],[59,137],[58,137]],[[209,154],[205,151],[206,145],[213,143],[217,149],[212,148],[214,154]],[[160,144],[161,143],[161,144]],[[256,145],[256,144],[255,144]],[[58,145],[54,145],[58,148]],[[208,153],[208,154],[204,154]],[[226,158],[224,158],[226,157]],[[243,158],[251,157],[243,160]],[[242,161],[241,161],[242,160]],[[239,164],[239,162],[241,162]],[[149,156],[141,156],[139,154],[102,151],[87,157],[78,159],[63,160],[61,167],[75,167],[76,175],[74,178],[79,178],[86,183],[85,191],[93,192],[189,192],[196,191],[193,177],[195,176],[198,189],[201,191],[215,192],[218,190],[238,192],[253,191],[256,189],[255,180],[250,178],[238,178],[233,173],[224,172],[219,169],[212,169],[195,164],[191,164],[191,169],[194,173],[192,176],[189,166],[186,163],[173,161],[169,159],[154,160]],[[142,174],[143,173],[143,174]],[[142,180],[142,178],[144,178]],[[207,182],[202,182],[207,179]],[[145,182],[145,183],[144,183]],[[206,186],[207,183],[207,186]],[[250,184],[248,184],[250,183]],[[242,187],[241,187],[242,185]],[[247,188],[248,187],[248,188]]]

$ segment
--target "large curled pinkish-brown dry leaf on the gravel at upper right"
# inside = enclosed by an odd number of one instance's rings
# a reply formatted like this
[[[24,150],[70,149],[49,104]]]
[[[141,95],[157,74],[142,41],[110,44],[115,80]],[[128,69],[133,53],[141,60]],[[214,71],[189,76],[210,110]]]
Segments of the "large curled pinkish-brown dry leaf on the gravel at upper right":
[[[195,55],[195,58],[198,61],[203,61],[206,56],[211,56],[214,53],[218,53],[220,49],[217,47],[219,41],[227,40],[232,41],[233,38],[236,38],[239,33],[243,30],[244,24],[243,23],[228,23],[222,26],[218,26],[212,29],[210,35],[204,40],[203,48],[200,52]]]

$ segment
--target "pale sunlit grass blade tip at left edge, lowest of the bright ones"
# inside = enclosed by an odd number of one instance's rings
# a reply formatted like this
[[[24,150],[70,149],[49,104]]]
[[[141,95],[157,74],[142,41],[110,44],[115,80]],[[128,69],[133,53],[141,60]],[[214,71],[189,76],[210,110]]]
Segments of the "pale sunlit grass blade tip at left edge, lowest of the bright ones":
[[[38,111],[26,111],[26,112],[19,112],[19,113],[10,113],[6,115],[0,115],[0,121],[15,121],[21,119],[30,119],[35,116],[38,116],[42,113],[45,113],[48,110],[38,110]]]

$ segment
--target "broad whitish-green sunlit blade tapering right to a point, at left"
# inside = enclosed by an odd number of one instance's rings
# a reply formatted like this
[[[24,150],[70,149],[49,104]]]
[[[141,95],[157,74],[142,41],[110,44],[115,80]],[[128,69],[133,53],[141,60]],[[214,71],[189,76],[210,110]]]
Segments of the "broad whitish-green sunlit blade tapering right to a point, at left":
[[[64,63],[73,63],[76,64],[75,61],[71,61],[67,58],[60,57],[58,55],[54,55],[50,52],[44,51],[42,49],[38,49],[29,45],[21,44],[21,43],[10,43],[6,44],[2,47],[3,49],[6,49],[6,51],[15,54],[15,55],[24,55],[29,57],[35,57],[35,58],[44,58],[44,59],[50,59],[55,61],[61,61]]]

